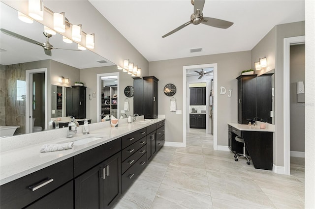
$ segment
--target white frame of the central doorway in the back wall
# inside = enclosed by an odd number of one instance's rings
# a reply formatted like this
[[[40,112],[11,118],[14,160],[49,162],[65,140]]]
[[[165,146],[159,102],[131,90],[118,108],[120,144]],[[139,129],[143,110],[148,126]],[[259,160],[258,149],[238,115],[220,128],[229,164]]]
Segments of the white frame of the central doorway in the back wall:
[[[218,77],[218,64],[217,63],[212,63],[212,64],[201,64],[201,65],[189,65],[189,66],[183,66],[183,145],[186,147],[186,136],[187,136],[187,131],[189,129],[189,82],[187,75],[189,72],[194,71],[195,69],[207,69],[207,68],[212,68],[213,69],[213,85],[211,82],[211,78],[207,79],[206,81],[206,106],[208,107],[210,104],[210,92],[211,92],[211,87],[213,86],[213,92],[217,92],[217,77]],[[209,97],[209,98],[208,98]],[[218,98],[217,95],[213,95],[213,147],[215,150],[218,149],[218,118],[217,118],[217,108],[215,108],[216,104],[218,104]],[[208,117],[210,114],[209,111],[210,108],[206,108],[206,124],[210,124],[210,118]],[[208,126],[207,126],[208,127]],[[208,130],[206,129],[207,134],[209,133],[209,127]]]

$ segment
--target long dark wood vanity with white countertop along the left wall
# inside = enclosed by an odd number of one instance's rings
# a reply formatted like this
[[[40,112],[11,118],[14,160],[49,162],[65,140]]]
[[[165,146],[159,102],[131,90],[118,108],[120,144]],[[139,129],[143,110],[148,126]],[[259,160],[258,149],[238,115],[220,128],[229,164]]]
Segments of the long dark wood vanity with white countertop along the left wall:
[[[79,127],[81,134],[73,138],[42,139],[1,152],[0,208],[110,208],[164,144],[164,118],[122,121],[115,128],[109,122],[91,124],[89,135]],[[80,145],[40,153],[43,144],[70,141]]]

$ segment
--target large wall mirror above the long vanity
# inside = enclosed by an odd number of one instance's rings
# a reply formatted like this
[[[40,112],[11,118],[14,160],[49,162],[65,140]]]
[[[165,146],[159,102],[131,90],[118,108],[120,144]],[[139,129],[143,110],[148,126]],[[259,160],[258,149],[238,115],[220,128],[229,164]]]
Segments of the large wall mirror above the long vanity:
[[[32,24],[20,21],[18,12],[3,2],[0,2],[0,15],[1,29],[40,43],[46,41],[43,25],[36,21]],[[117,72],[114,63],[94,52],[74,51],[78,49],[77,44],[64,43],[61,34],[53,35],[49,38],[49,43],[54,47],[69,50],[53,49],[52,55],[49,56],[39,45],[0,32],[0,126],[19,127],[15,134],[34,132],[34,127],[41,127],[40,131],[46,131],[51,118],[67,116],[63,98],[56,97],[56,102],[52,101],[55,98],[53,92],[63,92],[61,96],[65,96],[65,88],[71,88],[71,85],[78,81],[87,86],[86,117],[95,123],[96,74]],[[88,73],[88,78],[82,78],[86,77],[84,73],[80,76],[82,71]],[[69,78],[69,82],[59,82],[59,77]],[[121,81],[122,89],[130,83],[133,83],[133,80],[129,76]],[[120,101],[124,99],[118,98]]]

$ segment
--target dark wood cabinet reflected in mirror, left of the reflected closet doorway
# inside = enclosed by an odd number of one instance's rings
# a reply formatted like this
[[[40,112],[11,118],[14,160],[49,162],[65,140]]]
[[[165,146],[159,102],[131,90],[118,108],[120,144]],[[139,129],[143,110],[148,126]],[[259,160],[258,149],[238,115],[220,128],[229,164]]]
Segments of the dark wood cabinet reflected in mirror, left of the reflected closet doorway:
[[[72,86],[72,115],[86,118],[86,86]]]

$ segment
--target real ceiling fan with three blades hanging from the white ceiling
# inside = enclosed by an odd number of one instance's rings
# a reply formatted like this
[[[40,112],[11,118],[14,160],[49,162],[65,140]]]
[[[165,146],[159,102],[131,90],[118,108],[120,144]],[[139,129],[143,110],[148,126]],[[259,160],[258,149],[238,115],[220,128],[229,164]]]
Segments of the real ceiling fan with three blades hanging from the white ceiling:
[[[232,22],[228,22],[225,20],[220,20],[216,18],[210,18],[210,17],[204,17],[202,14],[203,6],[205,4],[205,0],[190,0],[191,4],[193,5],[193,13],[190,15],[190,21],[187,23],[175,28],[169,33],[166,33],[162,36],[162,38],[165,38],[166,36],[169,36],[180,29],[183,29],[184,27],[190,25],[191,23],[193,25],[198,25],[200,23],[207,25],[207,26],[213,26],[213,27],[219,27],[226,29],[233,25]]]

